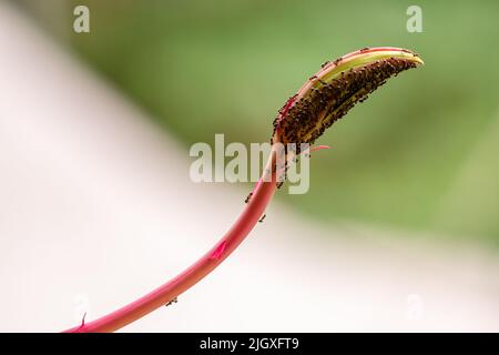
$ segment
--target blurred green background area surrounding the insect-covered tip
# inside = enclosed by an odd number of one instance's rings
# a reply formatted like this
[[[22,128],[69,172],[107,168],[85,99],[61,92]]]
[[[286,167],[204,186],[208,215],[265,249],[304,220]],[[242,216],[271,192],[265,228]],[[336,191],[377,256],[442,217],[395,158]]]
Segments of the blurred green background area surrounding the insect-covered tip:
[[[268,141],[285,100],[326,60],[418,52],[318,142],[310,190],[278,194],[324,222],[355,220],[499,246],[499,2],[21,1],[59,41],[189,146]],[[86,4],[91,33],[71,30]],[[422,33],[406,30],[408,6]],[[54,17],[59,13],[59,17]]]

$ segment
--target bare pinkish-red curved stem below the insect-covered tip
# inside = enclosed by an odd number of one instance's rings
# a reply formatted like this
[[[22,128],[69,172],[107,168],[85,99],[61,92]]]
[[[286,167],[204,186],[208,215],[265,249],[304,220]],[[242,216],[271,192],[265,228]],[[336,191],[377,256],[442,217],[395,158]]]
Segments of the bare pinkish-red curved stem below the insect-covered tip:
[[[114,332],[121,327],[145,316],[154,310],[165,305],[180,294],[184,293],[204,276],[218,266],[252,231],[265,212],[265,207],[272,200],[276,190],[276,173],[272,169],[275,166],[275,151],[273,150],[265,168],[266,172],[272,172],[271,179],[262,179],[257,182],[252,197],[245,210],[235,221],[234,225],[225,235],[204,254],[197,262],[180,273],[177,276],[153,290],[141,298],[108,314],[95,321],[83,323],[65,332]],[[265,172],[264,172],[265,174]]]

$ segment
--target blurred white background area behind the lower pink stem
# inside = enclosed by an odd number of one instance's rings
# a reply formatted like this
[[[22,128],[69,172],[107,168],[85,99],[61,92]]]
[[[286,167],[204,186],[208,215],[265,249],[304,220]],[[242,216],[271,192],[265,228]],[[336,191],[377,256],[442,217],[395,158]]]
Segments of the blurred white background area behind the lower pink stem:
[[[0,331],[59,332],[133,301],[243,209],[246,189],[192,183],[184,146],[6,2],[0,58]],[[498,332],[497,253],[445,239],[274,202],[220,268],[123,331]]]

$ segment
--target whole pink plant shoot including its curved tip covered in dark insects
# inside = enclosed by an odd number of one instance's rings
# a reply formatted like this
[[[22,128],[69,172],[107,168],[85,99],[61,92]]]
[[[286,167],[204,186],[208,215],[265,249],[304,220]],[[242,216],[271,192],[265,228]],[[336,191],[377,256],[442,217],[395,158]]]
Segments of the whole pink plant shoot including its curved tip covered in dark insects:
[[[314,143],[325,129],[344,116],[357,102],[399,72],[422,64],[414,52],[394,47],[365,48],[346,54],[322,69],[289,98],[274,121],[273,143]],[[324,149],[318,146],[313,150]],[[281,151],[282,152],[282,151]],[[285,151],[286,152],[286,151]],[[197,262],[145,296],[96,321],[67,332],[113,332],[173,301],[218,266],[247,236],[265,212],[283,181],[285,168],[277,169],[278,151],[273,145],[264,175],[251,200],[228,232]],[[286,164],[293,152],[285,153]],[[268,179],[264,179],[268,178]]]

